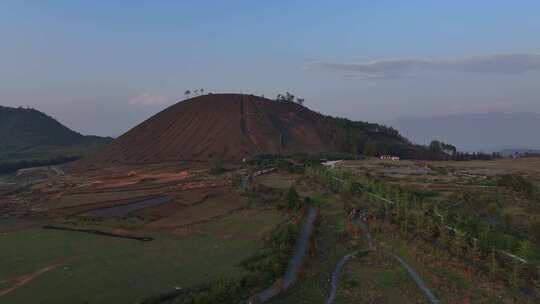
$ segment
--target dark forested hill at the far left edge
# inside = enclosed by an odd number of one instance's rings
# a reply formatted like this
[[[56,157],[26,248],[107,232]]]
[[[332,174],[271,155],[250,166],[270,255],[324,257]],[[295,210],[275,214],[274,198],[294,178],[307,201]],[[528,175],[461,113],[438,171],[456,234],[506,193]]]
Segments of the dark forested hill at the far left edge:
[[[110,138],[85,136],[31,108],[0,106],[0,147],[74,146],[108,142]]]

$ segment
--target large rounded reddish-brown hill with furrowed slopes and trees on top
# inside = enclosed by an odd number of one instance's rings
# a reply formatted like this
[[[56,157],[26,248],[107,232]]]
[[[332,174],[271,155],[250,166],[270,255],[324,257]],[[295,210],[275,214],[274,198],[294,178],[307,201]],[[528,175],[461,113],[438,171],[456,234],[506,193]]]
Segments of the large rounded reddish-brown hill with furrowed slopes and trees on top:
[[[324,116],[293,102],[208,94],[156,114],[87,161],[139,164],[241,160],[257,154],[393,153],[421,150],[391,128]]]

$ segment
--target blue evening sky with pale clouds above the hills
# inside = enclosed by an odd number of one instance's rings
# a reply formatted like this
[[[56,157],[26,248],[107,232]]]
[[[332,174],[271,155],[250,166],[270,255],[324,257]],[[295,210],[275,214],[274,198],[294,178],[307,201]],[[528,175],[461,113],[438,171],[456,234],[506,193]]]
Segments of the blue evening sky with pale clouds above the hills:
[[[118,136],[184,91],[370,122],[540,113],[540,1],[0,1],[0,105]]]

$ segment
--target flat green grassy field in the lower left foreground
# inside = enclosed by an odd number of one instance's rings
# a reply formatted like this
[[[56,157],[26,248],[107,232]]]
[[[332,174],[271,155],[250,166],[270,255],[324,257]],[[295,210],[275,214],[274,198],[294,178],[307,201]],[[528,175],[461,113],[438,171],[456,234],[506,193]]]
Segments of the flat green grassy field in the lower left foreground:
[[[85,233],[31,229],[0,235],[0,290],[10,279],[60,266],[1,297],[2,303],[132,303],[234,277],[253,240],[210,235],[155,235],[139,242]]]

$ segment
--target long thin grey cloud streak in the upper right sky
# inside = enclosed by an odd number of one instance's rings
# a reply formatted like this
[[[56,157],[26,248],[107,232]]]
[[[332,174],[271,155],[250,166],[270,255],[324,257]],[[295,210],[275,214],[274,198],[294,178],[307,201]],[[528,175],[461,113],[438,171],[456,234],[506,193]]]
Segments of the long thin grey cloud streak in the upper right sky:
[[[540,54],[490,54],[459,59],[383,59],[367,63],[316,62],[308,69],[355,73],[362,79],[395,78],[414,71],[519,74],[540,71]]]

